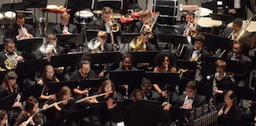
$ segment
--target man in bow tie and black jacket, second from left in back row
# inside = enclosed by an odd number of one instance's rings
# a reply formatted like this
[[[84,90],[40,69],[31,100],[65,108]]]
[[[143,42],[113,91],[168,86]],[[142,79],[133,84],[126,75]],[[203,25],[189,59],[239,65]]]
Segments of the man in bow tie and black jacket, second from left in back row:
[[[53,27],[53,34],[77,34],[77,26],[69,23],[70,14],[61,13],[61,24]]]

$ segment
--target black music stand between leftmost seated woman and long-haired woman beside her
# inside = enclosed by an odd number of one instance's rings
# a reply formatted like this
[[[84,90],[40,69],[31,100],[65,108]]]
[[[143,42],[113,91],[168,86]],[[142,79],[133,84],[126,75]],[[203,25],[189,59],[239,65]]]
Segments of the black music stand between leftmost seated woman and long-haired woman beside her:
[[[40,97],[43,93],[44,85],[35,85],[32,87],[24,88],[24,91],[22,92],[21,96],[21,102],[27,101],[27,99],[31,96],[33,97]]]

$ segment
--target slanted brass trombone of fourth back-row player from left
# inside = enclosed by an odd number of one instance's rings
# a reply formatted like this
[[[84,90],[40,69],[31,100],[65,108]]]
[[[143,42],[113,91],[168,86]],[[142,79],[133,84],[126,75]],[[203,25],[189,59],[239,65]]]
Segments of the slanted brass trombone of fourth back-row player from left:
[[[149,23],[147,23],[147,25],[150,26],[150,29],[147,30],[148,39],[153,39],[154,38],[154,34],[152,33],[152,29],[153,29],[154,25],[157,23],[157,18],[159,16],[159,14],[160,14],[159,12],[156,12],[155,14],[153,14],[152,17],[149,20]],[[146,25],[145,23],[142,25],[141,30],[146,30],[146,29],[144,29],[145,25]]]

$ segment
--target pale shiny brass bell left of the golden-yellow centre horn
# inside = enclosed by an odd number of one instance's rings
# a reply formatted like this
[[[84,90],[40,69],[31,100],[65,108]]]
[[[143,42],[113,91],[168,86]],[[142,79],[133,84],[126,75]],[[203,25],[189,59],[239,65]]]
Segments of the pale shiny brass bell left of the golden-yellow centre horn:
[[[102,53],[99,50],[99,46],[101,45],[102,39],[100,37],[95,37],[88,42],[88,49],[92,50],[92,52]]]

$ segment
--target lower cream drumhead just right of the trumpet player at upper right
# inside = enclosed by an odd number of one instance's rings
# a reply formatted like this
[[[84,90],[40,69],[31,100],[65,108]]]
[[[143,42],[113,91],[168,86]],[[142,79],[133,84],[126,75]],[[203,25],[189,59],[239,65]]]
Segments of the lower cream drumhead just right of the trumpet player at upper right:
[[[221,20],[214,20],[210,17],[199,18],[198,24],[203,28],[212,28],[213,26],[220,26],[222,24]]]

